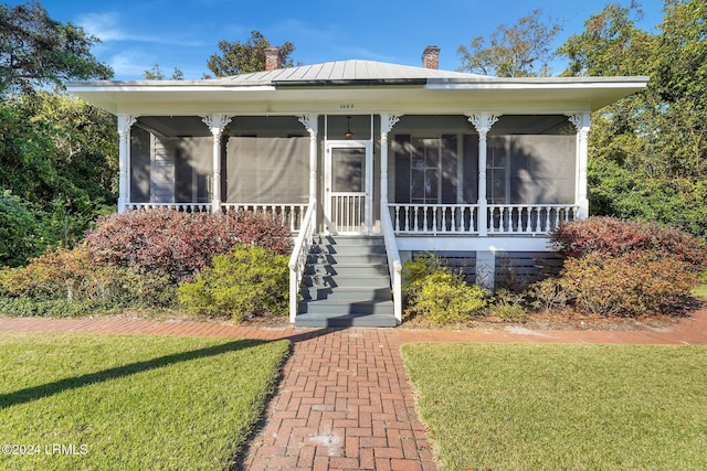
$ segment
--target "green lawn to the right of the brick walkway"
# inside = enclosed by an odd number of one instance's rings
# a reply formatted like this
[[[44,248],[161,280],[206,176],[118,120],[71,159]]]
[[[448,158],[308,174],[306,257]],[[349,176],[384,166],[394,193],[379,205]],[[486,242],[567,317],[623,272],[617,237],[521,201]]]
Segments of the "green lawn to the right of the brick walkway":
[[[707,347],[407,344],[446,470],[707,469]]]

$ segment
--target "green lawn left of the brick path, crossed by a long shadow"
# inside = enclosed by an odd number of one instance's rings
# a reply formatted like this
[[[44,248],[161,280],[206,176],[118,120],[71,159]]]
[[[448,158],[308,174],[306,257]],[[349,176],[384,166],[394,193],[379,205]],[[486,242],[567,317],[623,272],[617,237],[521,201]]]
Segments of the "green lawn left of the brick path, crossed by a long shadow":
[[[3,448],[0,469],[229,468],[288,350],[287,341],[0,335],[0,445],[39,451]]]

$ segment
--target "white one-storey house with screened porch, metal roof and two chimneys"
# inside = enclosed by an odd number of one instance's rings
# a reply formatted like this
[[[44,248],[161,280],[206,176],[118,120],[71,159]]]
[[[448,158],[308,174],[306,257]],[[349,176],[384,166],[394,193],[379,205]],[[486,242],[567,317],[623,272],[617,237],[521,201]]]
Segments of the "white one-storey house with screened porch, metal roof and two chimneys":
[[[439,53],[279,68],[273,47],[258,73],[68,89],[118,116],[118,211],[276,213],[292,322],[394,325],[416,251],[487,286],[551,258],[548,233],[588,215],[590,113],[647,83],[445,72]]]

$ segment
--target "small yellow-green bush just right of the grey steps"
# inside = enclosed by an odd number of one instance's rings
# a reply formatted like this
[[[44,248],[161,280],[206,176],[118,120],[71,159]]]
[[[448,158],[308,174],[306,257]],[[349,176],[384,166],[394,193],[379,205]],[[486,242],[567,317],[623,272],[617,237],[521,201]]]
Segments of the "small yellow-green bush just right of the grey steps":
[[[467,321],[486,307],[482,288],[467,285],[449,271],[435,271],[419,285],[420,292],[410,308],[436,324]]]

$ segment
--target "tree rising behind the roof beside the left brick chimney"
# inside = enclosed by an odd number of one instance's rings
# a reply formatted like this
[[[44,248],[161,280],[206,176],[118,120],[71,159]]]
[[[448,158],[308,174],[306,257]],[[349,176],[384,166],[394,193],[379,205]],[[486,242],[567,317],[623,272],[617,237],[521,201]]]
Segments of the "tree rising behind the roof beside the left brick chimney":
[[[267,47],[271,47],[267,38],[260,31],[253,30],[251,31],[251,38],[244,43],[240,41],[233,43],[225,40],[219,41],[221,55],[211,55],[207,65],[217,77],[264,71],[265,50]],[[295,46],[289,41],[279,46],[283,67],[292,67],[294,65],[293,60],[289,58],[294,51]]]

